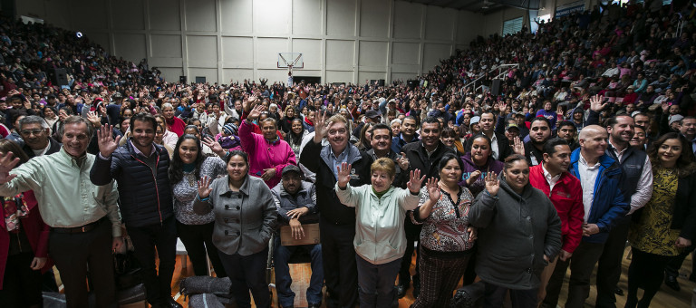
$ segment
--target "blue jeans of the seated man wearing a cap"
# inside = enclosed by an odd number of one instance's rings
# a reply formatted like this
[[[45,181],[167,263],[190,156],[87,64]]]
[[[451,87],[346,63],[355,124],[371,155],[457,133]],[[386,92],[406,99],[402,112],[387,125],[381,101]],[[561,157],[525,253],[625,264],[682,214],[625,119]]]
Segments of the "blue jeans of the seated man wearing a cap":
[[[324,268],[322,265],[322,245],[280,245],[280,237],[275,237],[273,251],[275,265],[275,289],[278,292],[278,303],[289,307],[295,303],[295,292],[290,289],[293,278],[287,261],[296,251],[306,249],[312,257],[312,277],[307,288],[307,303],[322,303],[322,286],[324,286]]]

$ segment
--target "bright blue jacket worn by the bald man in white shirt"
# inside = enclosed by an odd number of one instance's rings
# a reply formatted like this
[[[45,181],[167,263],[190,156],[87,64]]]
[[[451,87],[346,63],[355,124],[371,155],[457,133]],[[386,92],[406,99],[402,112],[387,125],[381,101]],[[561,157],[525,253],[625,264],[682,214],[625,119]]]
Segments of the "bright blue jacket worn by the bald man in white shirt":
[[[570,155],[569,171],[575,178],[582,181],[578,171],[579,159],[580,148],[575,149]],[[599,164],[599,174],[594,181],[592,208],[589,217],[587,217],[588,224],[599,226],[599,233],[593,236],[583,236],[583,241],[589,243],[606,242],[609,231],[616,224],[618,218],[625,216],[631,208],[620,189],[622,172],[619,164],[606,154],[599,158]]]

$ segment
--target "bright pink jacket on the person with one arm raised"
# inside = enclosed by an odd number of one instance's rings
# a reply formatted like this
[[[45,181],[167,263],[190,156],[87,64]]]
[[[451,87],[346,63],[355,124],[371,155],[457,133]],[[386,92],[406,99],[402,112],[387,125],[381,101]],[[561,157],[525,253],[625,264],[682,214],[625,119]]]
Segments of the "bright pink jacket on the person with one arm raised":
[[[242,149],[249,154],[249,175],[260,178],[264,169],[275,168],[275,176],[266,181],[268,188],[274,188],[280,183],[283,168],[290,164],[297,165],[295,152],[285,140],[268,142],[263,135],[256,134],[253,130],[247,120],[243,120],[239,127]]]

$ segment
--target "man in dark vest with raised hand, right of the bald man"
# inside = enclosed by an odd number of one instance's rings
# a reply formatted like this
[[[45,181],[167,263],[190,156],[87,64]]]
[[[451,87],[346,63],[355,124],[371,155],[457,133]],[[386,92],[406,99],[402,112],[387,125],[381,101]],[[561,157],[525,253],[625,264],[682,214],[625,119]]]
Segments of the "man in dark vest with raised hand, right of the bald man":
[[[599,109],[601,100],[594,97],[590,100],[592,109],[587,119],[588,124],[599,121]],[[631,196],[631,209],[628,214],[618,219],[616,226],[609,232],[609,237],[604,243],[604,250],[599,257],[597,265],[597,299],[596,307],[615,307],[616,296],[622,294],[616,284],[621,277],[621,260],[625,250],[628,227],[631,223],[631,215],[638,208],[643,207],[652,196],[652,166],[647,153],[640,147],[632,147],[629,141],[633,138],[633,118],[627,114],[617,115],[609,119],[607,133],[609,144],[606,154],[619,162],[623,177],[620,182],[623,195]]]

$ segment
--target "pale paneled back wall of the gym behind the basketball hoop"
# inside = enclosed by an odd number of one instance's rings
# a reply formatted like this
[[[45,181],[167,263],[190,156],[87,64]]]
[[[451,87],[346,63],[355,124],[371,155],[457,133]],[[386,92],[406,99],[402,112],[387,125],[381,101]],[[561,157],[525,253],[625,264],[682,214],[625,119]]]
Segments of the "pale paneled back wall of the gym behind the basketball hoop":
[[[81,31],[112,54],[227,83],[285,82],[277,53],[323,82],[406,79],[469,46],[488,16],[396,0],[17,0],[17,14]],[[502,21],[496,21],[501,24]],[[498,31],[499,33],[499,31]]]

